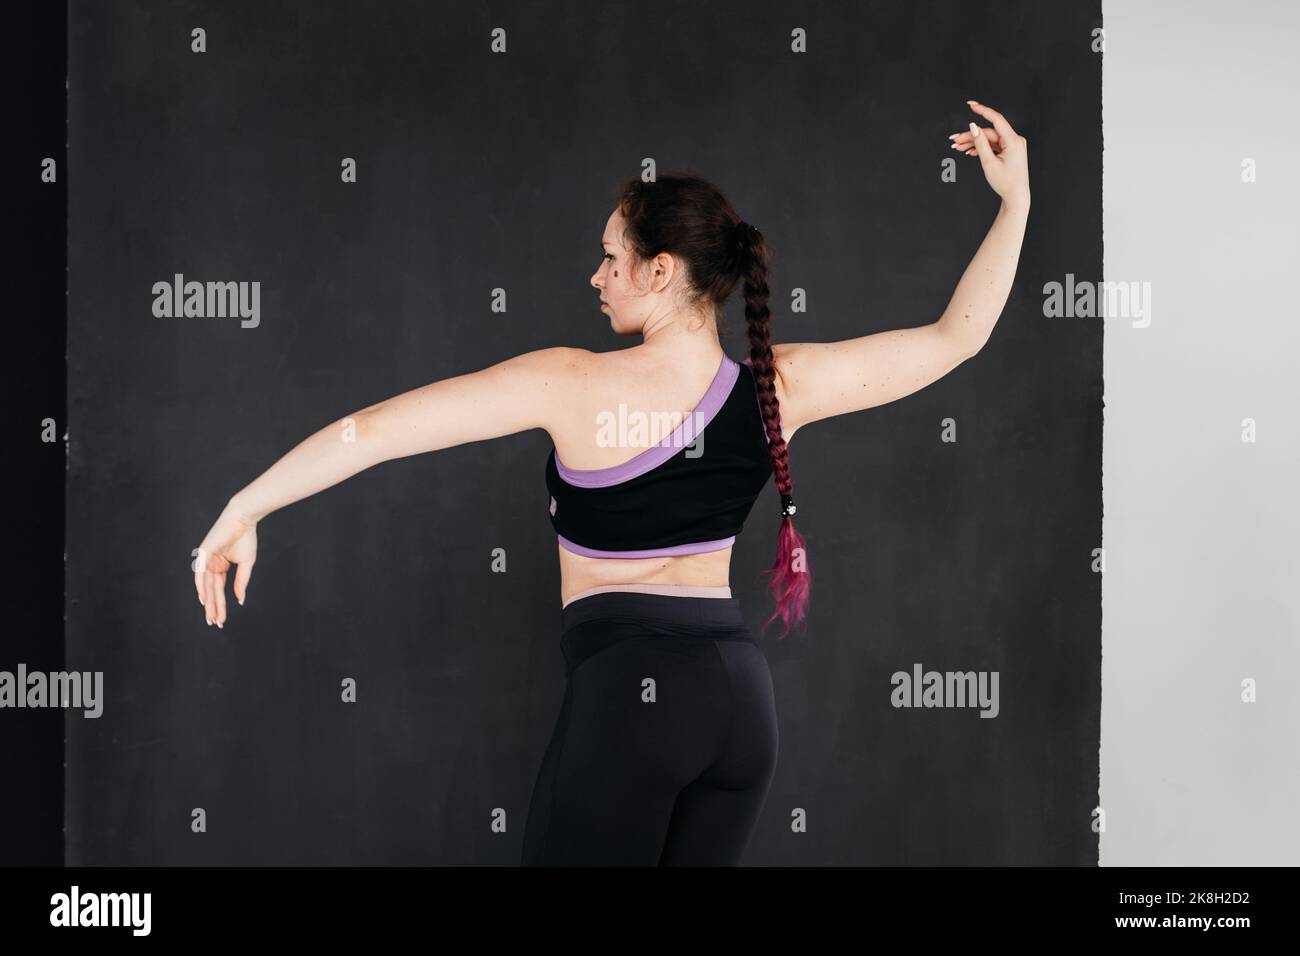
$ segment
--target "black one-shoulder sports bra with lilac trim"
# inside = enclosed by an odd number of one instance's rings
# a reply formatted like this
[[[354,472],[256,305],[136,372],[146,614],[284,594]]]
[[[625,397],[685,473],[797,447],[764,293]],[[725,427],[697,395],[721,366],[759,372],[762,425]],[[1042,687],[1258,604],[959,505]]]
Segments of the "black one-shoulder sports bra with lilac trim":
[[[754,372],[728,355],[694,411],[632,460],[576,471],[554,446],[546,458],[560,546],[590,558],[731,548],[771,476]]]

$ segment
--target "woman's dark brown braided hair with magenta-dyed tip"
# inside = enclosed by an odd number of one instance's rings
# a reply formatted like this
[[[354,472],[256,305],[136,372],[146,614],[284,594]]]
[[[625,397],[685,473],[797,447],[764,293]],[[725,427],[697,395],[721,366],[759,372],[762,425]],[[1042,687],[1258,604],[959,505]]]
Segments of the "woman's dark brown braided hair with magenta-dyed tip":
[[[792,626],[805,622],[812,574],[807,567],[807,544],[794,528],[790,454],[781,437],[781,408],[776,399],[767,241],[736,213],[722,190],[692,173],[660,176],[653,182],[630,177],[619,189],[618,206],[627,224],[627,246],[642,261],[659,252],[679,256],[686,265],[688,299],[712,306],[719,323],[724,320],[727,299],[737,285],[742,286],[750,367],[776,490],[781,496],[776,561],[764,572],[771,575],[768,591],[776,607],[763,627],[780,617],[784,639]]]

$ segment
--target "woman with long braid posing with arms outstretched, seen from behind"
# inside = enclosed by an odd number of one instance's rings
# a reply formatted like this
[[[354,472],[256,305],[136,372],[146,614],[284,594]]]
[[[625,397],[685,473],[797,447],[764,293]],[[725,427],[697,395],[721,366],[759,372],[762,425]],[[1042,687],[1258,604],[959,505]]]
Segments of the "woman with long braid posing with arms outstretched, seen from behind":
[[[732,544],[775,475],[783,522],[767,623],[780,615],[784,637],[803,620],[811,578],[790,520],[794,432],[916,392],[988,339],[1015,276],[1028,165],[1024,138],[1001,113],[970,105],[992,129],[971,124],[953,148],[979,156],[1002,206],[937,321],[772,345],[762,234],[698,177],[629,179],[592,285],[614,330],[642,343],[528,352],[311,436],[235,494],[204,537],[194,583],[207,622],[225,624],[231,566],[243,604],[257,523],[272,511],[380,462],[545,428],[567,687],[533,787],[524,864],[738,862],[777,728],[767,658],[728,585]],[[740,282],[744,364],[718,334]],[[611,441],[611,410],[623,424],[629,407],[638,420],[641,410],[690,411],[666,438]]]

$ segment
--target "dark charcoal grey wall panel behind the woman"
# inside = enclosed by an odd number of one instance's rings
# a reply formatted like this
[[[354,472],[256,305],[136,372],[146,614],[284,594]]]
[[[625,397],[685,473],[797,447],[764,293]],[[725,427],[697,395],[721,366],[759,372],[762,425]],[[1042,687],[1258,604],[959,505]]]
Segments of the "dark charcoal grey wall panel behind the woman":
[[[997,207],[976,160],[940,179],[975,98],[1031,140],[1017,287],[972,362],[792,442],[814,607],[806,640],[766,644],[780,766],[746,862],[1096,862],[1101,329],[1040,294],[1100,278],[1096,26],[1041,3],[74,3],[68,659],[107,702],[68,718],[68,861],[517,862],[563,685],[543,432],[272,515],[225,631],[190,550],[342,414],[632,345],[588,277],[647,156],[770,237],[779,341],[932,321]],[[260,281],[261,324],[155,317],[178,272]],[[733,561],[754,620],[776,510],[768,490]],[[892,708],[914,662],[1000,671],[1000,715]]]

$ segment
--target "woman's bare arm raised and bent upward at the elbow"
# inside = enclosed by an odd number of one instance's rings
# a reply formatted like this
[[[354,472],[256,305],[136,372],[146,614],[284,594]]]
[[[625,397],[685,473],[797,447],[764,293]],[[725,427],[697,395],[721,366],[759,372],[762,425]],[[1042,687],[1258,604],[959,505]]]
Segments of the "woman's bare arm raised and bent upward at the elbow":
[[[993,332],[1024,239],[1028,159],[1026,139],[1001,113],[975,103],[971,108],[992,121],[993,131],[962,133],[953,139],[962,151],[978,151],[984,177],[1002,206],[948,308],[937,321],[911,329],[775,346],[777,399],[788,436],[810,421],[885,405],[923,389],[975,355]]]

